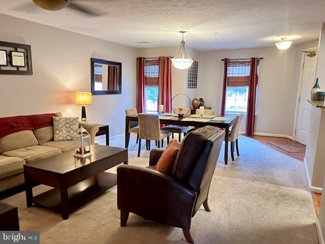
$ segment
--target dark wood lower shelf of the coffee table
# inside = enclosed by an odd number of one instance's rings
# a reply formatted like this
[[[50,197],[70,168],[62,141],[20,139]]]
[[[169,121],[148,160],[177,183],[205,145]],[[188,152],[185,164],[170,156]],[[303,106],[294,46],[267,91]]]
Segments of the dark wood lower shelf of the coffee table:
[[[116,174],[102,172],[68,188],[69,213],[81,207],[90,200],[100,196],[116,184]],[[37,205],[50,208],[53,211],[61,212],[60,189],[54,188],[39,194],[33,197],[32,202]]]

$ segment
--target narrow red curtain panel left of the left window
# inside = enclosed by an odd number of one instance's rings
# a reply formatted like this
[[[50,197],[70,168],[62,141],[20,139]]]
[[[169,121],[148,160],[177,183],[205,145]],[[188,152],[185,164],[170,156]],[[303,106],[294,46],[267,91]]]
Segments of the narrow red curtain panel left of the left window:
[[[145,112],[144,108],[144,57],[138,57],[137,69],[137,110]]]

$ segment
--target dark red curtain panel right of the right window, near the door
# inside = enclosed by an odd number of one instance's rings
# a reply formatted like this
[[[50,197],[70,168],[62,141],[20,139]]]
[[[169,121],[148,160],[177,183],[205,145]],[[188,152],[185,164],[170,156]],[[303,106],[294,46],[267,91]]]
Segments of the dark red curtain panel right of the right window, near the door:
[[[255,125],[255,106],[256,106],[256,88],[258,80],[258,58],[250,59],[250,75],[247,101],[247,119],[246,119],[246,136],[254,134]]]

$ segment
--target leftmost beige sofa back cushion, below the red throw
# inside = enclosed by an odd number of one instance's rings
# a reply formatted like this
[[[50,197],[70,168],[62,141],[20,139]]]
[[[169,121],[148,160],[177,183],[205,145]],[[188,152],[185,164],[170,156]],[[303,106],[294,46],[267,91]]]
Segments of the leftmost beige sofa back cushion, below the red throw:
[[[19,131],[0,138],[0,154],[4,151],[35,146],[39,142],[32,131]]]

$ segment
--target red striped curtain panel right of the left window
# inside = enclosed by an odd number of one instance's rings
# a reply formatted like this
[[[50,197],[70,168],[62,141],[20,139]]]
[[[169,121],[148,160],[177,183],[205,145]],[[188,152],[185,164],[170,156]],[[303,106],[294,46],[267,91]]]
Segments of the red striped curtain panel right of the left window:
[[[159,105],[164,105],[164,112],[172,112],[172,62],[170,57],[159,57]]]

